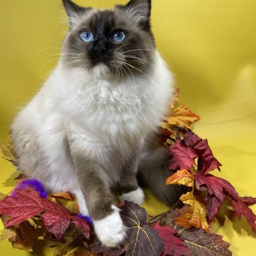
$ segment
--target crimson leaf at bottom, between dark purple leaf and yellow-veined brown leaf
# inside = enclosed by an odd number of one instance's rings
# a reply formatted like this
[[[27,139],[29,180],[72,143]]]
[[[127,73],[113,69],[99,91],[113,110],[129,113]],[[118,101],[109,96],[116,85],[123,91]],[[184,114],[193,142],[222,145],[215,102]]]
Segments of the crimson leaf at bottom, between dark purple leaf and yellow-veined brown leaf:
[[[153,226],[153,228],[154,230],[157,230],[157,233],[162,238],[162,241],[165,244],[164,252],[162,252],[161,256],[182,256],[190,254],[189,248],[183,244],[184,240],[177,236],[174,236],[174,234],[176,234],[176,231],[173,230],[170,226],[161,226],[159,222],[157,222]]]

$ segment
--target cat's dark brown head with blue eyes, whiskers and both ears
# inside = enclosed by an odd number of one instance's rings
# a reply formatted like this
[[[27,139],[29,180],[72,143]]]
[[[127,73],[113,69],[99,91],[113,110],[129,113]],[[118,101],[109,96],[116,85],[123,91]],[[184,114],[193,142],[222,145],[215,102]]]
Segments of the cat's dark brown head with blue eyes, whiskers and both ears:
[[[150,72],[155,50],[150,0],[131,0],[112,10],[63,3],[70,23],[61,56],[65,66],[90,70],[104,64],[120,76]]]

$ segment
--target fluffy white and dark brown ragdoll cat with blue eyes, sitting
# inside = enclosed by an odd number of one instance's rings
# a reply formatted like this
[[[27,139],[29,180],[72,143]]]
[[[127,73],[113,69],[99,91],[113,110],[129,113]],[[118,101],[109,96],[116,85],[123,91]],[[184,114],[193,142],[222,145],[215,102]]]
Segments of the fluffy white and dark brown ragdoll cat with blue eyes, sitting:
[[[70,27],[59,64],[15,118],[12,140],[26,176],[74,193],[102,244],[117,246],[126,229],[111,189],[141,204],[138,176],[165,203],[178,199],[154,138],[173,78],[156,50],[150,0],[111,10],[63,4]]]

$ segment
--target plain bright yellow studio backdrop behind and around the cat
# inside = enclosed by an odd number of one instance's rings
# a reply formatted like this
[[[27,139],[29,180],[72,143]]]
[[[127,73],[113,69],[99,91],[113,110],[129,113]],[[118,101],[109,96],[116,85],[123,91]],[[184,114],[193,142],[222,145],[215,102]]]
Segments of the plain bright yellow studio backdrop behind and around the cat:
[[[125,1],[76,2],[110,7]],[[67,20],[61,0],[2,0],[0,12],[0,140],[6,140],[13,116],[56,65],[53,54]],[[153,0],[152,24],[159,51],[176,74],[180,103],[201,117],[195,132],[208,138],[222,162],[221,176],[240,195],[256,197],[256,1]],[[0,170],[0,191],[10,192],[15,169],[0,160]],[[144,206],[151,215],[166,209],[148,193]],[[256,255],[256,236],[233,211],[225,211],[213,230],[230,242],[233,255]],[[1,255],[31,255],[8,242],[0,249]]]

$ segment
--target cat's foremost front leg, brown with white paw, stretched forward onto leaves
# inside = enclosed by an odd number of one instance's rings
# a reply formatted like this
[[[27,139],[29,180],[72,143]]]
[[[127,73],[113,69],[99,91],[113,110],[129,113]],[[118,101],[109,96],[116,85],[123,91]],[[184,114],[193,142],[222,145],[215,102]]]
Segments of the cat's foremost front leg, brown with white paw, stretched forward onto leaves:
[[[124,240],[126,228],[119,209],[114,206],[105,172],[96,159],[86,157],[88,154],[83,147],[73,143],[70,150],[80,189],[85,197],[89,215],[94,221],[95,233],[102,244],[116,247]]]

